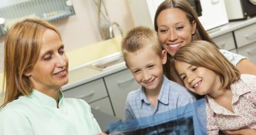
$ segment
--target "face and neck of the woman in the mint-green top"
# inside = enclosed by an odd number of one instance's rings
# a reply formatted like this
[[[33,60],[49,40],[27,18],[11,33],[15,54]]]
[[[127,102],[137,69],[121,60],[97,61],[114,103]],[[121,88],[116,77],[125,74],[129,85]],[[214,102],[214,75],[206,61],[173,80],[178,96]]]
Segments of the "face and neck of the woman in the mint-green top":
[[[55,31],[47,29],[43,32],[37,62],[25,74],[35,90],[57,101],[60,87],[68,83],[68,58],[60,36]]]

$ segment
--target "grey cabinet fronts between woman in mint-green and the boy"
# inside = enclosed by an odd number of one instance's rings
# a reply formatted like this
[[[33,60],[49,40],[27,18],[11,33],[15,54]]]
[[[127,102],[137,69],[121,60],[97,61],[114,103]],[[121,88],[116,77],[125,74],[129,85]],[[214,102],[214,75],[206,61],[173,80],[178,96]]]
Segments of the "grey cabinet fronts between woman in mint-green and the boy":
[[[127,69],[102,76],[88,83],[64,90],[65,97],[82,98],[95,110],[125,119],[126,96],[140,86]]]

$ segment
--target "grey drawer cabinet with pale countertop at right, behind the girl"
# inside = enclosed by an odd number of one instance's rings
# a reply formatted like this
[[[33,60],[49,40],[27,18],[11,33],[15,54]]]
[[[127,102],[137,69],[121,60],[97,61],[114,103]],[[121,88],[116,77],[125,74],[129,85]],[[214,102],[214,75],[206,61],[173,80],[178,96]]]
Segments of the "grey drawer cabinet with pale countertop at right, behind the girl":
[[[246,56],[256,64],[256,17],[233,21],[210,33],[219,48]]]

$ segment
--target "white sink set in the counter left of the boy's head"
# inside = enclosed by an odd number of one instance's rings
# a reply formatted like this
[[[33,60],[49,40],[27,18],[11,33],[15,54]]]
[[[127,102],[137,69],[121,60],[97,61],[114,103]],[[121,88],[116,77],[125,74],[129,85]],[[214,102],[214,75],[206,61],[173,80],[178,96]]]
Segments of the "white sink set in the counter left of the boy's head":
[[[101,59],[93,61],[88,67],[92,67],[96,70],[108,70],[113,67],[119,67],[125,65],[124,57],[120,52],[104,56]]]

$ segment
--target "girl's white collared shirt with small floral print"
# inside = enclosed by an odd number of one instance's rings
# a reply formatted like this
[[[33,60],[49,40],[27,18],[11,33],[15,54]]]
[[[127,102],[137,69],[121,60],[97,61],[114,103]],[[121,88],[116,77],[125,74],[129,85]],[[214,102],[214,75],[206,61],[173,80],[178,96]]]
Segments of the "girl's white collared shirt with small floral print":
[[[256,76],[241,74],[241,79],[232,83],[232,109],[234,113],[205,96],[208,134],[219,130],[241,128],[256,129]]]

